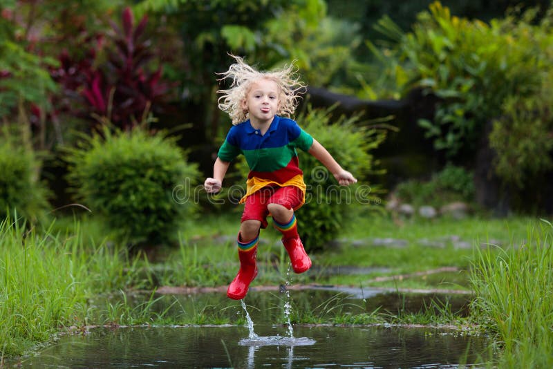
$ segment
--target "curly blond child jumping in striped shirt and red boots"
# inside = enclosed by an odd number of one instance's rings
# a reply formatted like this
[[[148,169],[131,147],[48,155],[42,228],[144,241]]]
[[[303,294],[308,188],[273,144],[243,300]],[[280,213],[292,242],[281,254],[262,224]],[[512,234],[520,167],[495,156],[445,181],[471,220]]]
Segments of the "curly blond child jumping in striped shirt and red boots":
[[[241,57],[221,73],[232,84],[217,91],[219,108],[232,118],[232,128],[218,151],[213,178],[204,183],[208,193],[221,190],[229,164],[245,155],[250,173],[241,203],[245,203],[238,232],[240,269],[230,283],[227,296],[239,300],[247,294],[257,276],[256,251],[259,231],[266,228],[267,216],[282,233],[282,243],[296,273],[306,272],[311,260],[298,235],[294,211],[305,202],[306,185],[299,169],[296,148],[315,156],[338,180],[350,185],[357,180],[340,167],[326,149],[290,119],[297,107],[297,92],[305,86],[287,66],[273,72],[259,72]]]

